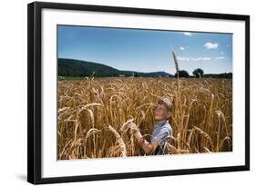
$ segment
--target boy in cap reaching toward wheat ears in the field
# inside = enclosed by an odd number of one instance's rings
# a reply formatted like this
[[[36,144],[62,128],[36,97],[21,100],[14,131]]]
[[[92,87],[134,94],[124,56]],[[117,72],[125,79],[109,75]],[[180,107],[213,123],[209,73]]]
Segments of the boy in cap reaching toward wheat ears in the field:
[[[150,138],[150,142],[145,140],[139,132],[137,125],[134,122],[128,123],[128,128],[134,133],[139,145],[144,152],[148,154],[162,155],[167,154],[165,142],[170,142],[172,136],[172,129],[169,125],[169,118],[171,116],[172,103],[168,98],[161,98],[156,106],[154,119],[156,121],[154,131]]]

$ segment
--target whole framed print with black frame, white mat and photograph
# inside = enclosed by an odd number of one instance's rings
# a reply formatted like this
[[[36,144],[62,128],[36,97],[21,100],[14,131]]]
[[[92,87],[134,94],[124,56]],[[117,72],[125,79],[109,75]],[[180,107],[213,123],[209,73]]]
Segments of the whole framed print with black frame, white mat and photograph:
[[[27,181],[250,170],[250,16],[28,5]]]

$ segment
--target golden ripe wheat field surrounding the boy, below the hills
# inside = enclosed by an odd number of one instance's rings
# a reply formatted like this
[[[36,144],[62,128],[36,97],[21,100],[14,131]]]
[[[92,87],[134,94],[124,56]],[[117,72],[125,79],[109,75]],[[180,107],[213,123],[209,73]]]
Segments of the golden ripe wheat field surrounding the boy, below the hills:
[[[149,139],[162,96],[174,105],[169,154],[232,151],[231,79],[92,77],[58,81],[58,159],[146,155],[122,126]]]

